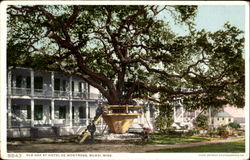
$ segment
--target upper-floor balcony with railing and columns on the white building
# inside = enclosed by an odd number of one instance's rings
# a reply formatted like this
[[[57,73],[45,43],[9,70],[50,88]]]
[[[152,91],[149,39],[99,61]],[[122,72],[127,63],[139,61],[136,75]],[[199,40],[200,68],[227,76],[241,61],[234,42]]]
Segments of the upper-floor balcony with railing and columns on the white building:
[[[39,72],[27,68],[16,68],[8,71],[7,78],[9,96],[104,99],[96,89],[81,78],[59,72]]]

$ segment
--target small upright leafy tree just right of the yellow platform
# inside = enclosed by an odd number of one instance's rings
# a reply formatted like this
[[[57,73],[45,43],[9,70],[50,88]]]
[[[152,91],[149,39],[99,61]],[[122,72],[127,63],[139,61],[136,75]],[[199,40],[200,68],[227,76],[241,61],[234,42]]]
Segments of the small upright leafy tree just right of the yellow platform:
[[[156,126],[160,131],[165,132],[174,123],[173,120],[173,106],[171,104],[159,105],[160,114],[156,118]]]

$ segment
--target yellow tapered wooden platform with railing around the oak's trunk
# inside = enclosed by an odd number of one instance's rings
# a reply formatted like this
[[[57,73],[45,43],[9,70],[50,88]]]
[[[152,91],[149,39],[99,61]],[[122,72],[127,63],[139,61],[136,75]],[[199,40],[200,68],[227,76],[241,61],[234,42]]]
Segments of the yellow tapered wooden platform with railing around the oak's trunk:
[[[139,115],[142,115],[140,105],[106,105],[102,117],[112,133],[123,134]]]

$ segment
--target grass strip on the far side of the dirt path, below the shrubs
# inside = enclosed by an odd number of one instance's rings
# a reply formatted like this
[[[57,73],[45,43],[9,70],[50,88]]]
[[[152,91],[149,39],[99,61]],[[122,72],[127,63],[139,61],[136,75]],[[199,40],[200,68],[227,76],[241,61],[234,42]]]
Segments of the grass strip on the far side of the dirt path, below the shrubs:
[[[218,137],[198,137],[198,136],[175,136],[164,134],[150,134],[150,138],[147,142],[137,142],[136,144],[183,144],[201,141],[210,141],[220,139]]]

